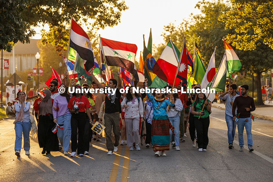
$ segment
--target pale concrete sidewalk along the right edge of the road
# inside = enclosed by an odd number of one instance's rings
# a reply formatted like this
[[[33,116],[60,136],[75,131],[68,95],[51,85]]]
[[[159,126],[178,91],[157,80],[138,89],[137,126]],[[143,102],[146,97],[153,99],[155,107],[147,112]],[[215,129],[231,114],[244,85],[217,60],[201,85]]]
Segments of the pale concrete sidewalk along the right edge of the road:
[[[268,104],[268,101],[266,101],[266,105],[273,105],[273,104]],[[212,107],[216,107],[223,110],[225,110],[226,108],[224,103],[212,103]],[[252,114],[254,117],[259,117],[261,119],[273,121],[272,111],[273,111],[273,107],[256,107],[256,109],[252,112]]]

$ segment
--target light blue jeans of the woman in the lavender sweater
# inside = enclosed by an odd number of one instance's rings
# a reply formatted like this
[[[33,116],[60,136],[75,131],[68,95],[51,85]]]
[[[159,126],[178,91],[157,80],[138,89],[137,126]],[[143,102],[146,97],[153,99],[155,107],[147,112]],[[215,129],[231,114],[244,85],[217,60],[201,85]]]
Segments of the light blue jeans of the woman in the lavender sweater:
[[[57,136],[62,145],[62,150],[68,152],[71,137],[71,114],[68,113],[63,116],[58,116],[56,119],[57,124],[63,124],[63,130],[60,128],[57,130]]]

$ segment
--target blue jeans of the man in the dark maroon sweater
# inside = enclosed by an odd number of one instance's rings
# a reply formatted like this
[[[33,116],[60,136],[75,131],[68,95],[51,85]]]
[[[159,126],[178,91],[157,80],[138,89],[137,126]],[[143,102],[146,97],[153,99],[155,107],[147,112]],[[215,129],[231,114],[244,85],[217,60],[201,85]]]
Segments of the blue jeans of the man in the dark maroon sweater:
[[[248,121],[245,121],[248,119]],[[243,138],[243,133],[244,133],[244,127],[245,131],[248,136],[248,147],[252,147],[253,142],[252,142],[252,134],[251,134],[251,118],[239,118],[237,126],[238,126],[238,138],[239,138],[239,146],[243,147],[244,146],[244,138]]]

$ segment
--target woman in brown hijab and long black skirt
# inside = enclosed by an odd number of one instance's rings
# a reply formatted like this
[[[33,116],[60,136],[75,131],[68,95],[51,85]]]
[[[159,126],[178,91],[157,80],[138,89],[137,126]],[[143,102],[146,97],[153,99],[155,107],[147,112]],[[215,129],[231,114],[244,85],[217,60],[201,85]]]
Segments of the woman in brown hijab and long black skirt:
[[[39,104],[38,111],[38,142],[40,148],[43,148],[42,154],[50,155],[50,151],[59,151],[59,141],[56,133],[53,133],[51,129],[55,126],[53,122],[53,99],[50,98],[51,92],[49,89],[42,91],[45,97]]]

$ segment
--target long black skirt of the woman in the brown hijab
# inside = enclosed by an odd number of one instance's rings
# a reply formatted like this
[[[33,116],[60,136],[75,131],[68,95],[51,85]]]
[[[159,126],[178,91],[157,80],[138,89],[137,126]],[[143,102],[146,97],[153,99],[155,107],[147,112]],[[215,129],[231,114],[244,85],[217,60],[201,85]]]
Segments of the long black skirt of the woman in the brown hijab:
[[[59,140],[57,133],[53,133],[51,129],[56,123],[49,119],[49,115],[39,116],[38,123],[38,142],[40,148],[46,151],[59,151]]]

